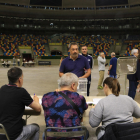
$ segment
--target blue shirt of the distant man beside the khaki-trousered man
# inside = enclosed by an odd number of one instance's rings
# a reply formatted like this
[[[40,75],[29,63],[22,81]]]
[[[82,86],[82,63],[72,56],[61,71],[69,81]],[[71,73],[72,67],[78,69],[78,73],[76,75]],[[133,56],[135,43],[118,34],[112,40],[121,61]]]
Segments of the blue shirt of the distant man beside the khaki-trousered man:
[[[116,57],[111,58],[110,65],[112,65],[112,68],[110,70],[110,75],[116,75],[116,69],[117,69],[117,58]]]

